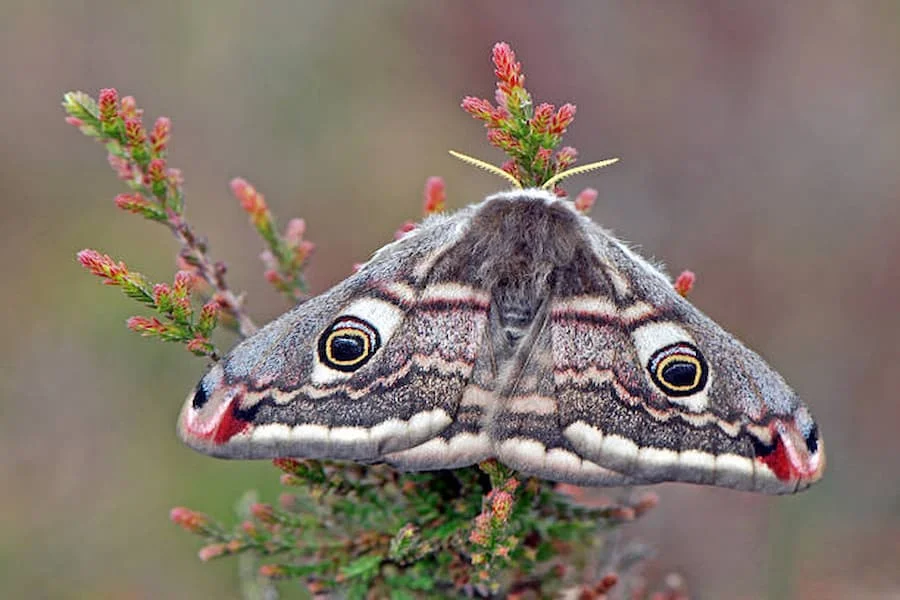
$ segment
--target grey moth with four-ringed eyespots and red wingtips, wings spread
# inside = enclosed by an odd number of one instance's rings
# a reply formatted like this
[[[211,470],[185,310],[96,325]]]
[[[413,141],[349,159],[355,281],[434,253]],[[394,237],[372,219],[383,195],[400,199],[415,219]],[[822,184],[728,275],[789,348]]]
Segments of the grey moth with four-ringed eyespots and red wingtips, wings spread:
[[[546,189],[430,216],[379,249],[215,364],[178,432],[223,458],[417,471],[496,457],[589,486],[785,494],[825,466],[778,373]]]

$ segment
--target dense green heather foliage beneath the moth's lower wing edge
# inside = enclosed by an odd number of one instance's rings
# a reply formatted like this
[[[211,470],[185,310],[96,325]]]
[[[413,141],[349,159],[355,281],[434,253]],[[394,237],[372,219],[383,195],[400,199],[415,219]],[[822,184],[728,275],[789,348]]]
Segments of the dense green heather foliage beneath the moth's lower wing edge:
[[[579,573],[569,567],[592,560],[604,530],[655,505],[649,495],[580,506],[552,483],[521,481],[495,460],[415,474],[273,462],[291,489],[277,504],[251,504],[231,528],[183,507],[172,521],[201,537],[202,560],[250,553],[260,575],[301,578],[310,591],[348,598],[489,598],[526,589],[550,597],[577,587]]]

